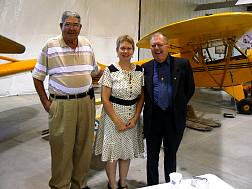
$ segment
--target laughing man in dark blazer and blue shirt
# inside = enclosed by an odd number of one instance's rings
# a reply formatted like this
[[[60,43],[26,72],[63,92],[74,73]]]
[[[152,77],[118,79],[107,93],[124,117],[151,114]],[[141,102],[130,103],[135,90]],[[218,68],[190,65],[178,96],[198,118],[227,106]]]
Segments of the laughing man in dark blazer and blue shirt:
[[[186,126],[186,107],[194,90],[188,60],[168,54],[168,39],[155,33],[150,39],[154,60],[144,68],[144,136],[147,145],[147,184],[159,183],[158,164],[163,143],[165,181],[176,171],[176,153]]]

